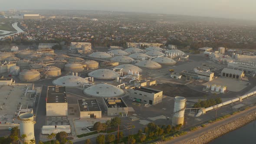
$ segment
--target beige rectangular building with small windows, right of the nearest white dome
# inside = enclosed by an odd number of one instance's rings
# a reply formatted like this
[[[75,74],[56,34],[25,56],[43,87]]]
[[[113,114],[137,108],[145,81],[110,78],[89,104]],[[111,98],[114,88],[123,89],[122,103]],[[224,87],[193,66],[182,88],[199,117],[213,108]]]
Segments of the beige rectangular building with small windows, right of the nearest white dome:
[[[130,88],[129,98],[139,99],[143,103],[156,105],[162,102],[163,91],[147,87],[134,87]]]

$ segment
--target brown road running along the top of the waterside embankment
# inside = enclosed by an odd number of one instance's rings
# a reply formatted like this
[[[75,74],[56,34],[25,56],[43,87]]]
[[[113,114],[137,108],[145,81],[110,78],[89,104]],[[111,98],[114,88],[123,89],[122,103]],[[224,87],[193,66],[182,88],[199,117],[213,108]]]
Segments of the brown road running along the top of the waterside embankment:
[[[217,128],[220,125],[227,124],[227,123],[229,123],[231,121],[236,120],[237,118],[241,118],[241,117],[243,117],[245,115],[248,115],[249,113],[251,113],[253,111],[256,111],[256,106],[254,106],[253,108],[249,108],[248,110],[241,111],[240,113],[238,113],[236,115],[231,115],[229,118],[225,118],[223,120],[214,122],[213,124],[207,125],[207,127],[205,127],[205,128],[200,128],[197,131],[192,131],[192,132],[190,132],[190,133],[188,133],[186,135],[183,135],[183,136],[180,136],[180,137],[176,137],[175,139],[173,139],[171,141],[165,141],[165,142],[163,142],[161,144],[175,144],[177,142],[179,142],[179,143],[185,142],[185,141],[190,140],[192,138],[198,137],[201,134],[206,133],[207,131],[211,131],[214,128]]]

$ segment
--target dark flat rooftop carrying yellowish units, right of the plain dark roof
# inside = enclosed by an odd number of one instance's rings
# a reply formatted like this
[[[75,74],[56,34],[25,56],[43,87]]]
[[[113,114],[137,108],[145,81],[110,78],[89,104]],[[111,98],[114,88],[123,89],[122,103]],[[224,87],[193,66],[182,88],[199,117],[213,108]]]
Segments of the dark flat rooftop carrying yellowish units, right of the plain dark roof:
[[[108,108],[127,108],[122,98],[104,98],[104,101]]]

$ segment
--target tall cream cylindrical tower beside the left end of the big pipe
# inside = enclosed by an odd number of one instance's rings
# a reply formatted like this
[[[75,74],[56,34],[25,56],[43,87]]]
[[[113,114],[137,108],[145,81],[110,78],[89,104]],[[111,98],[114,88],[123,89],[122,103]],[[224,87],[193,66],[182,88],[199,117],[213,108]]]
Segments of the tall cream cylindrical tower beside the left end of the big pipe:
[[[183,125],[186,101],[187,99],[181,96],[177,96],[174,98],[174,115],[172,117],[173,126],[176,126],[178,124]]]

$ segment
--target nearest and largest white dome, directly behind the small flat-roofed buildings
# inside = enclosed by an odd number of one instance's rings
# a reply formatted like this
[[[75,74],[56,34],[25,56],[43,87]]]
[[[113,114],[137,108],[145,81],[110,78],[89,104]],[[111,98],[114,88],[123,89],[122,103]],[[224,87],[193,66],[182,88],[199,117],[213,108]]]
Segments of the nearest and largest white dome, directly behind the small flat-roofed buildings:
[[[114,85],[98,84],[86,88],[84,94],[94,97],[119,97],[125,92]]]

